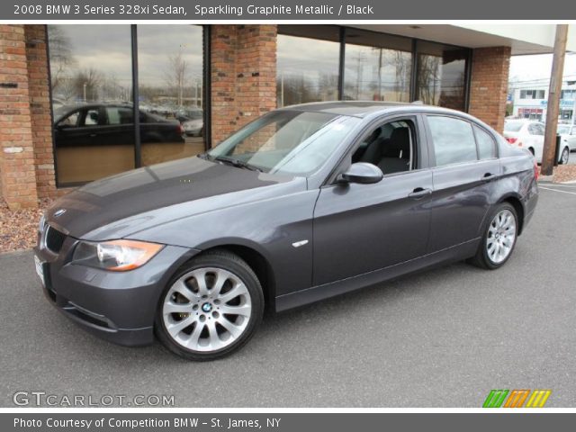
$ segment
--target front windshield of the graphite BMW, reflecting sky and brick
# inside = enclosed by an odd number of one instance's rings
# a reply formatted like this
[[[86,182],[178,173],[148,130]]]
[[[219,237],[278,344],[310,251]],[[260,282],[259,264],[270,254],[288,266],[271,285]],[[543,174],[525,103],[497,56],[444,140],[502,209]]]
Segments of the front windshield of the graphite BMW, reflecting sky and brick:
[[[212,148],[208,157],[272,174],[309,175],[359,121],[327,112],[270,112]]]

